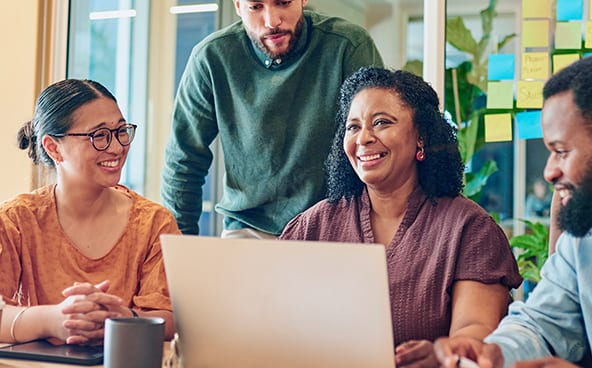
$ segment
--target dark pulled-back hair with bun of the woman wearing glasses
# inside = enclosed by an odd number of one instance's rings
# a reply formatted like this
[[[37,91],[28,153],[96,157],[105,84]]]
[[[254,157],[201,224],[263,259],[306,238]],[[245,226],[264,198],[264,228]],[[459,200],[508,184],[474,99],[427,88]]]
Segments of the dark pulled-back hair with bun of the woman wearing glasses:
[[[28,150],[27,154],[35,164],[54,167],[41,138],[66,133],[72,125],[72,114],[82,105],[100,97],[117,102],[107,88],[92,80],[65,79],[48,86],[37,98],[33,120],[26,122],[17,133],[19,148]]]

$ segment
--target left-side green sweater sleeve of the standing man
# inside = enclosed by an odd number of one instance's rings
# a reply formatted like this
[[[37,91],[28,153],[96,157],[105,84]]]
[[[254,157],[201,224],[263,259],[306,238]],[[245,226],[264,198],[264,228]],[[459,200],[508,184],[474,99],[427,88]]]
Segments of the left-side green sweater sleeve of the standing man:
[[[211,75],[200,50],[194,48],[179,84],[162,171],[162,202],[186,234],[199,233],[209,146],[218,134]]]

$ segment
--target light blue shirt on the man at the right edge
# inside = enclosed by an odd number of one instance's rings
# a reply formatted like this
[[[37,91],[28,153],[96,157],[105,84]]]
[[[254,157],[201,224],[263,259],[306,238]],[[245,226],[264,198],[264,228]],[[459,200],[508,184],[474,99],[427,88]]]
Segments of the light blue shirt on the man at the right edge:
[[[505,366],[545,356],[577,363],[592,338],[592,231],[563,233],[526,303],[515,302],[485,341],[502,348]]]

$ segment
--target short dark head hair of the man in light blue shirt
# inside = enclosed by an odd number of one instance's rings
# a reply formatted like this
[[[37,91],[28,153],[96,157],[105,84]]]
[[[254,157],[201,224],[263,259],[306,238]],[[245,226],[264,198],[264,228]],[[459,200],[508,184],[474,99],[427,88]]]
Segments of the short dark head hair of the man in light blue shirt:
[[[592,123],[592,57],[580,59],[551,76],[543,88],[543,98],[569,90],[582,116]],[[592,124],[589,128],[592,131]]]

